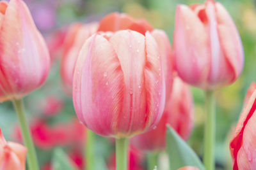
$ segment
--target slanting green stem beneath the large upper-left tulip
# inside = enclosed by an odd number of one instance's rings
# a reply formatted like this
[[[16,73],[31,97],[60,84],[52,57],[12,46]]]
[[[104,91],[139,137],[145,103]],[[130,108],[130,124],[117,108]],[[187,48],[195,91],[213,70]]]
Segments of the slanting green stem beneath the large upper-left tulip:
[[[31,134],[29,131],[28,123],[25,117],[25,109],[22,99],[13,100],[12,101],[15,111],[17,113],[17,117],[20,123],[20,129],[22,132],[22,138],[24,141],[24,145],[28,149],[28,166],[30,170],[39,170],[38,162],[36,159],[35,146],[33,145],[33,141],[31,138]]]

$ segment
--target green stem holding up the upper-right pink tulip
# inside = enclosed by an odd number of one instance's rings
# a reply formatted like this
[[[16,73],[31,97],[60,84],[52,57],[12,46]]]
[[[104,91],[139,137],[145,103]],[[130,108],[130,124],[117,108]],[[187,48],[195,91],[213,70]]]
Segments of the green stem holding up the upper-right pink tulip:
[[[215,124],[216,124],[216,111],[214,92],[209,90],[205,91],[205,131],[204,131],[204,165],[205,169],[213,170],[214,161],[214,145],[215,145]]]

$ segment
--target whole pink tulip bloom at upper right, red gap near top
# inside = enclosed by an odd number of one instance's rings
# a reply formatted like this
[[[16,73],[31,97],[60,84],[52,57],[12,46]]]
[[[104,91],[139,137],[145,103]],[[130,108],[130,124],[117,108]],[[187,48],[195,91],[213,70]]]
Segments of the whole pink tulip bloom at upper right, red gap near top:
[[[205,90],[230,85],[243,69],[243,46],[236,25],[213,0],[177,7],[173,50],[180,78]]]

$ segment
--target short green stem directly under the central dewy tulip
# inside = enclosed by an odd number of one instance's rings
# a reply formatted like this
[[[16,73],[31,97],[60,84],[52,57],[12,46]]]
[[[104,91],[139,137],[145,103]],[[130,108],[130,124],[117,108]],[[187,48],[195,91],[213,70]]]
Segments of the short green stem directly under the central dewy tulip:
[[[127,170],[128,138],[116,139],[116,170]]]

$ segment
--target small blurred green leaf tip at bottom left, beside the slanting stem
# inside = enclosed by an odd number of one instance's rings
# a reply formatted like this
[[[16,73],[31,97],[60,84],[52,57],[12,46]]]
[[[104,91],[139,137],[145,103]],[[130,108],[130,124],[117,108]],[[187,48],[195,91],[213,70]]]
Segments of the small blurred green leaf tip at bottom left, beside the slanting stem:
[[[53,170],[77,170],[72,160],[69,159],[61,148],[54,150],[52,165]]]

